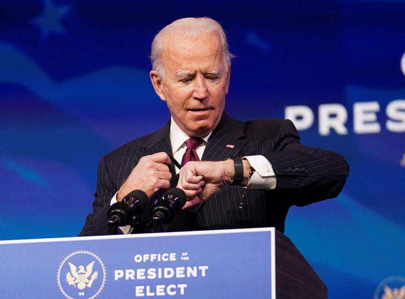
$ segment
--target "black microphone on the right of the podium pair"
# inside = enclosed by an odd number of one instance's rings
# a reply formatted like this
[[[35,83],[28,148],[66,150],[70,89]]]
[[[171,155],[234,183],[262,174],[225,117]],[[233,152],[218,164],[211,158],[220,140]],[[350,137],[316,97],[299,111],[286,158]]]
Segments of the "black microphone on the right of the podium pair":
[[[174,216],[186,204],[186,193],[179,188],[172,188],[163,194],[162,197],[157,198],[152,205],[151,215],[152,221],[169,223],[173,220]]]

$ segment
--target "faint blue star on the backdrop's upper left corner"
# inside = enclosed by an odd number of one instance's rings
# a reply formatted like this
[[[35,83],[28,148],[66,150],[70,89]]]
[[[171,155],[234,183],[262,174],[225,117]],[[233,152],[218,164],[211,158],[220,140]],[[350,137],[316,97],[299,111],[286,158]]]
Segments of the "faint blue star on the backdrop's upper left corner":
[[[65,29],[61,20],[71,10],[70,5],[55,6],[51,0],[44,0],[44,10],[41,16],[32,19],[32,23],[41,30],[41,35],[45,38],[50,33],[63,34]]]

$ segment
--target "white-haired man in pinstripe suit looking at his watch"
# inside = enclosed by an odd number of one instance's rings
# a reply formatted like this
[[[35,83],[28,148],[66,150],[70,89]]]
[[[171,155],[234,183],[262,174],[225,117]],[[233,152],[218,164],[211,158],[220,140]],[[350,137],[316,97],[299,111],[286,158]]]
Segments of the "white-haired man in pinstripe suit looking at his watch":
[[[289,120],[244,123],[224,112],[230,58],[225,33],[210,18],[180,19],[156,35],[150,78],[171,120],[102,158],[94,210],[80,235],[107,234],[110,205],[133,190],[161,196],[172,179],[164,164],[173,162],[169,155],[189,162],[178,183],[188,201],[168,231],[274,226],[283,232],[291,205],[339,194],[348,175],[342,156],[301,145]]]

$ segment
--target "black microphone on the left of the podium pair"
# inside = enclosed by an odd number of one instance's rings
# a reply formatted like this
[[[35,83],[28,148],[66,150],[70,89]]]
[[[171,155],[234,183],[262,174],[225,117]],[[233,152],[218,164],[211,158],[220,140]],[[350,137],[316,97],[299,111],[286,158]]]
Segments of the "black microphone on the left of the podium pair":
[[[108,210],[108,227],[112,230],[117,226],[135,224],[136,217],[145,209],[148,196],[142,190],[134,190],[121,202],[111,205]]]

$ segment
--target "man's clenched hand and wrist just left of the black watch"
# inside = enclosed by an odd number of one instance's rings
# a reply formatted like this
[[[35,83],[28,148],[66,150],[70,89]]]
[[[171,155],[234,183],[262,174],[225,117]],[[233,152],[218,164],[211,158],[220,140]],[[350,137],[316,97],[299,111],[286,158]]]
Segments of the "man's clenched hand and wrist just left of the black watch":
[[[187,202],[184,208],[207,201],[235,175],[232,160],[188,162],[180,169],[178,188],[184,190]]]

